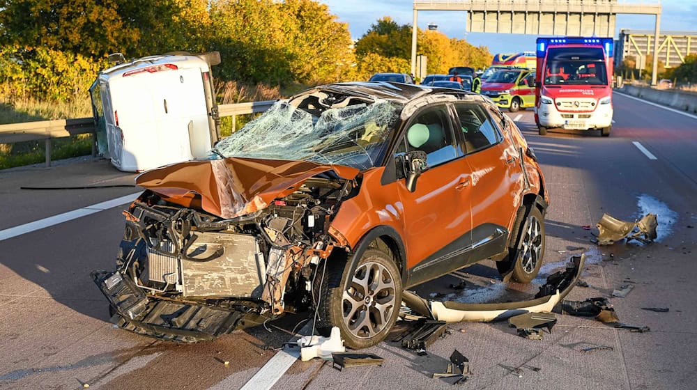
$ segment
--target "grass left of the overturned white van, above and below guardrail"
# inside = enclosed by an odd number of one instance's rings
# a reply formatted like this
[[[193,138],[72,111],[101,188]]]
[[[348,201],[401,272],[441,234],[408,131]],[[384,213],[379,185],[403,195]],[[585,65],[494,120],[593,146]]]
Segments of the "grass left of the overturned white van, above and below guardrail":
[[[89,100],[40,102],[33,99],[5,102],[0,97],[0,125],[91,116]],[[66,159],[92,153],[90,134],[52,139],[51,159]],[[45,162],[45,141],[0,144],[0,169]]]

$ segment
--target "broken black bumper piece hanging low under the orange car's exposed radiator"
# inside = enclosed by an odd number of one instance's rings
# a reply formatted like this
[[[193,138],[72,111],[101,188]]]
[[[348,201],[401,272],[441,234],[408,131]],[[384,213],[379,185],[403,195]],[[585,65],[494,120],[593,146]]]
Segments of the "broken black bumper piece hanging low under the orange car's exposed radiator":
[[[268,319],[252,302],[226,302],[224,308],[146,296],[121,272],[91,274],[112,306],[112,322],[123,329],[162,340],[192,343],[210,341],[235,329],[253,327]]]

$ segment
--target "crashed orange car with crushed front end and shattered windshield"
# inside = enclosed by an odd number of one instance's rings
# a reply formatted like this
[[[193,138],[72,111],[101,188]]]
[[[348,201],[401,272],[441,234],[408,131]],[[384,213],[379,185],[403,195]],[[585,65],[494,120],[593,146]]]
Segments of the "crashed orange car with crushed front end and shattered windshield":
[[[543,260],[535,153],[489,99],[449,88],[318,86],[137,184],[116,271],[92,276],[116,324],[156,338],[308,310],[366,348],[406,288],[485,259],[529,282]]]

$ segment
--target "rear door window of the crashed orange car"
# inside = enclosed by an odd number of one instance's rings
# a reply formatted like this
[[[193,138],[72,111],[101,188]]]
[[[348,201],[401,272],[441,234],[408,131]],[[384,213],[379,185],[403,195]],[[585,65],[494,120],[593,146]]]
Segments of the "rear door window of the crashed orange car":
[[[496,145],[502,139],[498,127],[479,104],[455,104],[467,154]]]

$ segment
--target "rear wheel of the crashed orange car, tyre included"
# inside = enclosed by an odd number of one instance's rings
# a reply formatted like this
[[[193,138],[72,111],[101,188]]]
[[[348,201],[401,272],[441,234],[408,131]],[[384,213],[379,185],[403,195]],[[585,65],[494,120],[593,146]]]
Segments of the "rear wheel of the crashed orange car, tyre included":
[[[517,251],[513,253],[513,279],[521,283],[530,283],[537,276],[544,258],[544,217],[533,205],[528,217],[523,221],[519,233]]]

